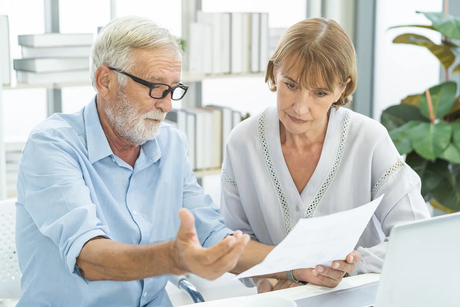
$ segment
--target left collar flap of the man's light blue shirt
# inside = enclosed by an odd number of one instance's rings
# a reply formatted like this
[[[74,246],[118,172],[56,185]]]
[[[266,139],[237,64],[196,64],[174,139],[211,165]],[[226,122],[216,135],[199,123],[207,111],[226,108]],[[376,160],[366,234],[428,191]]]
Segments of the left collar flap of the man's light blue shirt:
[[[99,121],[96,96],[86,105],[84,119],[89,162],[92,164],[106,156],[113,155],[113,151],[110,148],[104,130],[102,130],[101,122]]]

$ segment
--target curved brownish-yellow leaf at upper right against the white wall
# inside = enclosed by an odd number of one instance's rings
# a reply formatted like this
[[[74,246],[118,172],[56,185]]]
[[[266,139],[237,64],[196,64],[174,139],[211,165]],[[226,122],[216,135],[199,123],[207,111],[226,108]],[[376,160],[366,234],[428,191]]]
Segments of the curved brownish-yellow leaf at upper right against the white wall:
[[[402,34],[397,36],[393,40],[393,43],[411,44],[426,47],[428,50],[430,50],[431,53],[435,55],[435,57],[437,57],[439,62],[441,62],[441,65],[443,65],[444,69],[449,68],[455,60],[455,55],[448,46],[436,45],[430,39],[422,35],[417,35],[414,33]]]

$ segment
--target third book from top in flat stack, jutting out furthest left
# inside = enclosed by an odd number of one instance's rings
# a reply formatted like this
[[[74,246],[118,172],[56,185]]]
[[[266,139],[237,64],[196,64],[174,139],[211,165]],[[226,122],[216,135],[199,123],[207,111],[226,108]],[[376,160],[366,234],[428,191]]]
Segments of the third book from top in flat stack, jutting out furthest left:
[[[20,58],[13,60],[13,67],[37,73],[89,70],[89,58]]]

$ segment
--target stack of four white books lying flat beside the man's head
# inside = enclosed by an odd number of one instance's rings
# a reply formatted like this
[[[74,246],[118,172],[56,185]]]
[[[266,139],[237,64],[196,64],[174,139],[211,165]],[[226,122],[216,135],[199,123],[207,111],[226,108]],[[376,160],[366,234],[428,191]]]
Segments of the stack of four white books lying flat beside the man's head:
[[[89,81],[92,34],[18,35],[21,59],[13,60],[17,83]]]

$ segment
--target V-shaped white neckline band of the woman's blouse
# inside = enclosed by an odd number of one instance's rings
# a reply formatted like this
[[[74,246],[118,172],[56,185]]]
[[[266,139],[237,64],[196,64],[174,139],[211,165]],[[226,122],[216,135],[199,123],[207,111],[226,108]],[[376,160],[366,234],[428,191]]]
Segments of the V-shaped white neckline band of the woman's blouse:
[[[273,157],[271,160],[276,170],[276,176],[278,177],[276,180],[282,185],[282,190],[287,192],[284,193],[283,196],[286,202],[288,204],[293,204],[294,207],[295,205],[299,205],[301,208],[304,208],[305,217],[313,216],[319,201],[321,201],[328,186],[332,183],[331,179],[333,178],[331,178],[331,173],[335,175],[335,169],[338,167],[338,165],[334,165],[334,163],[337,163],[338,155],[341,157],[341,151],[338,153],[338,150],[340,144],[343,143],[345,114],[348,115],[349,118],[348,110],[344,108],[331,110],[318,165],[307,185],[305,185],[304,190],[299,194],[282,153],[279,118],[276,108],[267,110],[265,137],[268,150]],[[310,208],[311,206],[314,206],[314,208]],[[293,208],[293,206],[289,207]]]

